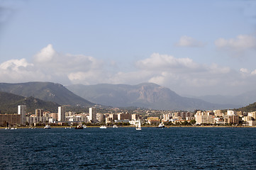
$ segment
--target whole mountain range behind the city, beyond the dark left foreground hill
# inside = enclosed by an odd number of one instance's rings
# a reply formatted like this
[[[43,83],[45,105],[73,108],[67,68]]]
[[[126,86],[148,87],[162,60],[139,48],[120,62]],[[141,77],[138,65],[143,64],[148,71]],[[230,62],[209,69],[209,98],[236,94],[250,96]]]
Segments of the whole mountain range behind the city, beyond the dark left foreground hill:
[[[23,97],[38,98],[60,105],[138,107],[156,110],[213,110],[239,108],[228,103],[211,103],[199,98],[182,97],[174,91],[152,83],[138,85],[96,84],[62,86],[51,82],[0,84],[0,91]],[[245,105],[243,105],[245,106]]]

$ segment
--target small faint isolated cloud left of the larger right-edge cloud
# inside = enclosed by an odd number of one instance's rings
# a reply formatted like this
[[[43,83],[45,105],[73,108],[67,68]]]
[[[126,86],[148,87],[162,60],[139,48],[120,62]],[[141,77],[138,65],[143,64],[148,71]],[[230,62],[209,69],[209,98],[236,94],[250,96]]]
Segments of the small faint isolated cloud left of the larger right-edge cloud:
[[[184,35],[179,39],[179,42],[177,42],[176,45],[182,47],[202,47],[205,43]]]

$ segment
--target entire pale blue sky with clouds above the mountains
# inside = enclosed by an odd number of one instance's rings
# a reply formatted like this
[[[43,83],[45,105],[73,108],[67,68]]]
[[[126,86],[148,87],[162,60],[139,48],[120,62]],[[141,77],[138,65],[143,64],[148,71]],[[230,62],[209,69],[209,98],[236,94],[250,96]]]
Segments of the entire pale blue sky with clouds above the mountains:
[[[256,90],[256,1],[0,0],[0,82]]]

